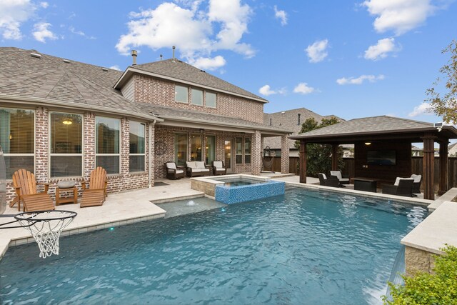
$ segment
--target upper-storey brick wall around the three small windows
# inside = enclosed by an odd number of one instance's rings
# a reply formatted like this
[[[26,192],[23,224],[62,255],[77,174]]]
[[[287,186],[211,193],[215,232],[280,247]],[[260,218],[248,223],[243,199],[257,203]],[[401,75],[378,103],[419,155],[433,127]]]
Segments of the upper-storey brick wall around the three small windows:
[[[259,101],[217,93],[217,108],[209,108],[191,104],[191,90],[189,90],[189,103],[178,103],[174,101],[175,90],[173,82],[154,79],[151,76],[144,75],[136,75],[134,78],[135,101],[179,109],[203,111],[209,114],[232,116],[263,124],[263,103]],[[199,89],[198,87],[194,88]]]

